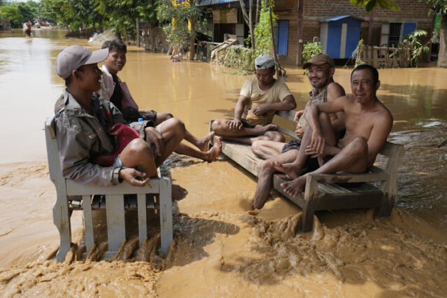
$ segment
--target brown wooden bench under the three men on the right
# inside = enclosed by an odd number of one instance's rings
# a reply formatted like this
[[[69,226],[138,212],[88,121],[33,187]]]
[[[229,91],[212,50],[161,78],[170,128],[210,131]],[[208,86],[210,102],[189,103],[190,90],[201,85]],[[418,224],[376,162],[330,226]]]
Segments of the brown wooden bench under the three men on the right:
[[[279,117],[288,120],[293,120],[294,114],[294,111],[277,112]],[[289,129],[280,127],[279,131],[296,139],[295,132]],[[263,159],[254,155],[251,146],[222,141],[222,153],[254,176],[259,175]],[[279,186],[289,180],[282,173],[273,175],[273,188],[302,208],[300,222],[302,232],[312,230],[314,213],[318,210],[378,208],[379,216],[389,216],[397,196],[397,166],[403,155],[403,146],[387,142],[379,154],[388,159],[383,168],[372,166],[368,173],[358,174],[309,175],[305,193],[297,197],[289,196]]]

